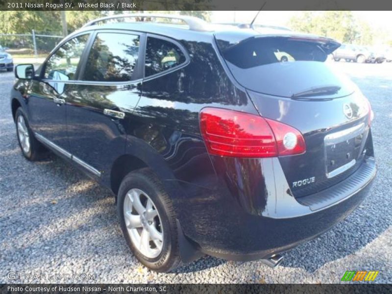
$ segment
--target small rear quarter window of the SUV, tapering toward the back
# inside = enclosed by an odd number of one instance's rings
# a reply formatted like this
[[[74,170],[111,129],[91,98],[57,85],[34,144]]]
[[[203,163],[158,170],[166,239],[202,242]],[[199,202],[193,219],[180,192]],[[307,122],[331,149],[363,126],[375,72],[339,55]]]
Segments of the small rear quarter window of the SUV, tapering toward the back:
[[[147,38],[146,76],[169,70],[185,61],[184,53],[172,42],[151,37]]]

